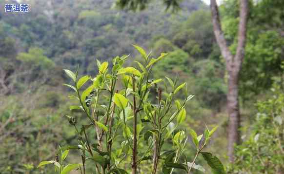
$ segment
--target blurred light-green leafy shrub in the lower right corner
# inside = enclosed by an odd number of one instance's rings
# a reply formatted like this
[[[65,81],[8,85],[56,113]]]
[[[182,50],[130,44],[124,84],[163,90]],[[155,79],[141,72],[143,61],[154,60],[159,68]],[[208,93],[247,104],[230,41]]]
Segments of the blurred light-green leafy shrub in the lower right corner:
[[[230,174],[283,174],[284,172],[284,94],[280,87],[258,102],[252,133],[236,147],[236,162]]]

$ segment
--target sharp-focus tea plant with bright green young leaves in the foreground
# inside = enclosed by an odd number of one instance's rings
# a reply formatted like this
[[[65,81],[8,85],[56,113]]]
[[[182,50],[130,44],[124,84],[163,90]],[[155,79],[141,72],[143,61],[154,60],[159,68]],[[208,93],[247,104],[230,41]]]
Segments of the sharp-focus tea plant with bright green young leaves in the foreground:
[[[78,106],[70,106],[71,110],[81,110],[89,120],[88,125],[79,126],[76,118],[67,116],[78,134],[78,145],[66,145],[59,149],[55,160],[42,161],[54,164],[58,174],[67,174],[73,169],[86,173],[86,161],[92,161],[92,173],[96,174],[132,174],[143,173],[142,163],[151,161],[151,174],[173,174],[175,169],[189,174],[192,169],[204,172],[201,165],[195,164],[198,155],[202,154],[213,172],[224,174],[222,163],[216,156],[203,152],[211,135],[217,127],[205,129],[204,134],[197,135],[189,130],[196,149],[192,162],[188,162],[184,151],[188,142],[185,130],[178,129],[186,119],[186,103],[194,97],[187,94],[186,83],[177,84],[177,79],[168,77],[151,79],[153,66],[166,56],[162,53],[158,58],[149,58],[150,54],[139,46],[134,47],[142,55],[143,62],[135,61],[140,70],[134,67],[123,67],[129,56],[113,59],[112,68],[108,62],[97,60],[98,75],[96,77],[78,77],[64,70],[71,77],[74,85],[64,84],[74,90],[71,98],[78,100]],[[158,84],[164,82],[162,88]],[[90,83],[82,90],[85,84]],[[176,99],[177,93],[183,91],[183,101]],[[173,104],[174,103],[174,104]],[[95,138],[88,135],[87,130],[94,129]],[[166,141],[171,140],[171,149],[163,148]],[[95,142],[95,143],[94,143]],[[69,150],[77,149],[81,153],[80,164],[63,165]],[[61,157],[59,158],[59,155]],[[131,158],[131,164],[123,161]],[[123,163],[123,164],[122,164]]]

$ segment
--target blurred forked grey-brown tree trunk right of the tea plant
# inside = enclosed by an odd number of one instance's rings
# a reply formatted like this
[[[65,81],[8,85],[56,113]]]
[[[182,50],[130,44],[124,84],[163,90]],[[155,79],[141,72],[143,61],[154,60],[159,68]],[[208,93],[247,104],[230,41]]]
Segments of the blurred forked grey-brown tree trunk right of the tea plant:
[[[221,54],[226,61],[226,70],[228,77],[227,110],[229,115],[228,125],[228,156],[231,162],[234,162],[234,145],[240,142],[240,108],[239,108],[239,74],[242,68],[244,58],[244,48],[246,39],[246,23],[248,15],[248,0],[240,0],[240,21],[238,31],[238,47],[236,55],[233,56],[227,46],[224,34],[221,28],[219,10],[216,0],[210,0],[210,9],[214,35],[220,47]]]

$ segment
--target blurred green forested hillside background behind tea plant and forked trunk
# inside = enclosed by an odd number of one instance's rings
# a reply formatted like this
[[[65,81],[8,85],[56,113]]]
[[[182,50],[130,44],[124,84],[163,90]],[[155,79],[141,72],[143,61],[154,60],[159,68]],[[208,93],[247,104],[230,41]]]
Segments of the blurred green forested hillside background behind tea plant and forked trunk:
[[[0,0],[0,7],[8,1]],[[209,6],[201,0],[184,0],[181,9],[172,13],[165,11],[162,1],[153,0],[143,11],[133,12],[119,9],[115,2],[28,0],[29,13],[0,10],[1,174],[53,174],[53,167],[37,165],[54,160],[59,146],[77,143],[66,115],[87,124],[81,112],[69,109],[74,101],[62,83],[71,80],[62,69],[75,72],[79,67],[81,75],[95,77],[96,59],[112,62],[116,56],[128,54],[125,63],[136,66],[133,60],[142,58],[131,44],[151,50],[153,57],[168,53],[153,68],[151,78],[178,77],[179,83],[187,82],[188,93],[195,97],[188,103],[181,129],[192,128],[200,135],[204,127],[219,125],[206,149],[227,163],[228,74],[214,37]],[[236,147],[236,164],[227,165],[227,172],[274,174],[277,170],[282,174],[284,2],[251,0],[249,6],[239,89],[243,144]],[[225,0],[220,13],[225,38],[234,53],[239,1]],[[187,149],[192,146],[189,140]],[[194,154],[190,150],[186,155],[192,161]],[[70,151],[66,160],[78,163],[81,159]],[[210,171],[202,158],[196,163]]]

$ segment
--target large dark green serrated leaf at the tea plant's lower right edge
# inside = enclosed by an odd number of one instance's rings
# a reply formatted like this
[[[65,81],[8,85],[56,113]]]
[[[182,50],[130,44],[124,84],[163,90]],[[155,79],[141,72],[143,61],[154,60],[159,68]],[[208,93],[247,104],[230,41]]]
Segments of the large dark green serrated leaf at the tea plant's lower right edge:
[[[213,174],[225,174],[225,170],[221,161],[217,158],[217,156],[212,155],[209,152],[201,152],[203,158],[207,161],[208,165],[212,169]]]

